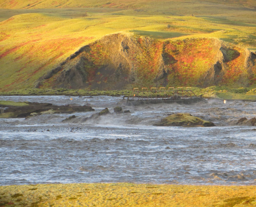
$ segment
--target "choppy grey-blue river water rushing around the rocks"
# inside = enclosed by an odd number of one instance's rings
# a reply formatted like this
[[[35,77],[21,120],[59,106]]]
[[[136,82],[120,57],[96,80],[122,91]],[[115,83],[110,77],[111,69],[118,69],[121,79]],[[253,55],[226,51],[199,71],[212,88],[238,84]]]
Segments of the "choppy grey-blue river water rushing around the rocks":
[[[0,96],[0,100],[90,105],[93,112],[0,119],[0,185],[77,182],[256,184],[256,102],[122,106],[121,97]],[[111,114],[83,121],[108,107]],[[171,113],[191,113],[216,127],[155,127]],[[73,114],[72,114],[73,115]]]

